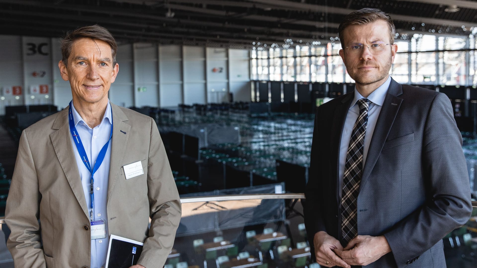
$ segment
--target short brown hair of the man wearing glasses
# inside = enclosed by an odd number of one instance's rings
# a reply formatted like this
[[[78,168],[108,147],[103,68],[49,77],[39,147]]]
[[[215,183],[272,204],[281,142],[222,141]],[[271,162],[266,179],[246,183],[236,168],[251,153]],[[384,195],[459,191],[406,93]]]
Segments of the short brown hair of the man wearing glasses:
[[[338,27],[338,36],[340,37],[342,48],[344,48],[344,29],[346,29],[350,25],[365,25],[378,20],[383,20],[387,22],[389,26],[389,41],[391,42],[391,44],[394,44],[394,34],[396,33],[396,27],[394,26],[391,17],[389,17],[389,15],[384,11],[378,9],[363,8],[346,15],[346,17],[344,17],[344,20]]]

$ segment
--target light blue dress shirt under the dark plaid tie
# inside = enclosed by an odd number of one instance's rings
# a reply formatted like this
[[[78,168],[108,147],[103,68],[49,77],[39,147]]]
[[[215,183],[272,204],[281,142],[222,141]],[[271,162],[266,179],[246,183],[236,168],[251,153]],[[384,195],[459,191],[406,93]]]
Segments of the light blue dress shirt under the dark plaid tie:
[[[374,128],[376,127],[376,121],[378,121],[378,116],[381,112],[381,107],[383,107],[384,98],[386,97],[386,93],[390,83],[391,76],[389,76],[386,82],[384,82],[381,86],[375,89],[367,97],[367,99],[370,100],[371,103],[369,104],[368,125],[366,127],[366,134],[364,134],[363,168],[364,164],[366,163],[366,156],[368,155],[369,144],[371,143],[371,138],[373,137]],[[359,105],[356,102],[362,98],[364,97],[355,88],[354,99],[350,104],[348,114],[346,115],[346,120],[344,121],[343,133],[341,134],[339,174],[340,181],[343,181],[344,164],[346,163],[348,145],[350,144],[351,133],[353,131],[354,123],[356,122],[356,119],[359,115]]]

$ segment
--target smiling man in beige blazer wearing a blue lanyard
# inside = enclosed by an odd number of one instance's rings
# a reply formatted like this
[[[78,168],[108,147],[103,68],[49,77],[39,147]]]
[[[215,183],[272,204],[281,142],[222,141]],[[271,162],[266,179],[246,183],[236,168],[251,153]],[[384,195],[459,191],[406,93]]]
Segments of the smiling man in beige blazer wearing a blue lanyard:
[[[93,131],[107,121],[107,107],[112,115],[106,152],[109,175],[103,178],[107,234],[144,241],[134,268],[163,267],[174,244],[181,205],[156,123],[109,103],[107,93],[119,67],[114,38],[106,29],[95,25],[69,33],[62,52],[60,72],[70,81],[73,106],[85,124]],[[90,196],[85,196],[89,192],[80,177],[84,167],[77,165],[79,151],[72,141],[68,108],[21,134],[5,216],[15,267],[101,267],[92,261]],[[144,174],[126,179],[124,165],[139,161]],[[101,179],[94,176],[95,187]],[[107,244],[109,237],[103,240]]]

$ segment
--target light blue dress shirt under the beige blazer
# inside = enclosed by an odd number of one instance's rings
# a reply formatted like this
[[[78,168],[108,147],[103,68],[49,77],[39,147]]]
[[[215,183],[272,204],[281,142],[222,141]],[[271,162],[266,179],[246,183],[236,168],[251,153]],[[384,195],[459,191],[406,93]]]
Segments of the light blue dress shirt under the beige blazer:
[[[111,105],[106,107],[103,120],[94,128],[89,127],[86,122],[81,118],[80,114],[72,107],[73,119],[76,130],[80,135],[81,142],[83,143],[84,151],[91,163],[91,168],[96,163],[99,151],[103,148],[104,144],[109,140],[111,135],[111,127],[113,123],[113,115],[111,114]],[[75,152],[76,165],[80,171],[81,183],[83,185],[84,196],[86,197],[86,206],[88,211],[91,212],[91,173],[84,166],[83,161],[78,153],[78,149],[74,145],[73,136],[72,146]],[[106,266],[106,256],[109,244],[109,234],[107,233],[108,216],[106,215],[106,198],[108,193],[108,178],[109,178],[109,164],[111,162],[111,142],[109,143],[104,160],[98,170],[94,173],[94,215],[93,219],[102,218],[106,221],[106,238],[91,240],[91,268],[102,268]],[[88,219],[90,216],[88,215]]]

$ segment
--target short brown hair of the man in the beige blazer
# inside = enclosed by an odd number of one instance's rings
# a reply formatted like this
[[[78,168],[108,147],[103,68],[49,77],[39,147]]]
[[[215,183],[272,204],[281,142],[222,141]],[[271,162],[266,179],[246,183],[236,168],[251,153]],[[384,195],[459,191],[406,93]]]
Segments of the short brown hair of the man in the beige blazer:
[[[85,26],[74,31],[69,31],[60,41],[62,61],[64,65],[68,65],[68,58],[70,57],[74,41],[81,38],[91,38],[106,42],[111,47],[111,54],[113,56],[113,66],[116,65],[117,44],[113,35],[103,26],[97,24],[92,26]]]

